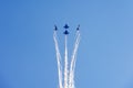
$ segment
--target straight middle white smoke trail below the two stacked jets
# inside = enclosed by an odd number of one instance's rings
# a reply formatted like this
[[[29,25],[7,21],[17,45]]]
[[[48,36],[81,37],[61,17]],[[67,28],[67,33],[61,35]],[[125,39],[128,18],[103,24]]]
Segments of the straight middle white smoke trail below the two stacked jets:
[[[64,38],[64,88],[68,88],[68,74],[69,74],[69,70],[68,70],[68,37],[65,35],[65,38]]]

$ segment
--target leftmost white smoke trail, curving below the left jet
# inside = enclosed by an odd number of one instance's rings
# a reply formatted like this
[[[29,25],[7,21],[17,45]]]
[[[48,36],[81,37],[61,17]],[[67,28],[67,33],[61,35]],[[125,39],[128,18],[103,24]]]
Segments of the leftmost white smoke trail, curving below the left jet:
[[[59,51],[59,44],[58,44],[57,32],[55,31],[53,33],[53,40],[54,40],[54,43],[55,43],[55,51],[57,51],[57,62],[58,62],[58,72],[59,72],[59,87],[63,88],[63,86],[62,86],[61,54],[60,54],[60,51]]]

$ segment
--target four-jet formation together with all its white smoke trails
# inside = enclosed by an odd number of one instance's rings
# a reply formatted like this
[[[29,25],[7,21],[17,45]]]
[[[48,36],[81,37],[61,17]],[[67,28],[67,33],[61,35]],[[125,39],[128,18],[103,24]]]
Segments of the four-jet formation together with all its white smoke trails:
[[[55,52],[57,52],[57,62],[58,62],[58,72],[59,72],[59,88],[75,88],[74,86],[74,68],[75,68],[75,62],[76,62],[76,52],[80,43],[80,31],[79,31],[80,25],[76,28],[76,33],[75,33],[75,42],[74,42],[74,47],[73,52],[71,55],[71,62],[69,64],[69,56],[68,56],[68,24],[64,25],[65,31],[64,33],[64,65],[61,64],[61,54],[59,50],[59,44],[58,44],[58,37],[57,37],[57,31],[58,28],[55,25],[54,33],[53,33],[53,40],[55,43]],[[70,66],[69,66],[70,65]],[[63,69],[62,69],[63,66]],[[64,72],[62,74],[62,72]],[[63,75],[63,76],[62,76]]]

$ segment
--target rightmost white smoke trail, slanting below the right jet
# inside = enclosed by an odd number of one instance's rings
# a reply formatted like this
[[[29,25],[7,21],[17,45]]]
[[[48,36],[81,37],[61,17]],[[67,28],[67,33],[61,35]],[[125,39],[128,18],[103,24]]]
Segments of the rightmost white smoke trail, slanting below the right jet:
[[[69,88],[74,88],[74,68],[75,68],[76,52],[78,52],[79,43],[80,43],[80,33],[78,31],[75,36],[74,50],[71,57],[71,64],[70,64]]]

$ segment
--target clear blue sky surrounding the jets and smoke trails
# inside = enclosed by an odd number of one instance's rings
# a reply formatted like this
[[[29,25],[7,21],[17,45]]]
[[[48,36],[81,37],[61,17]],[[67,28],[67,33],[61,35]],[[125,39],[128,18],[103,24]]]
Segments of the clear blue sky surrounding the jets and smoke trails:
[[[65,23],[81,24],[76,88],[133,88],[133,0],[0,0],[0,88],[58,88]]]

